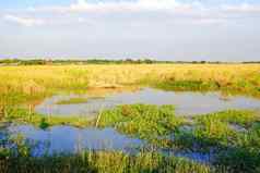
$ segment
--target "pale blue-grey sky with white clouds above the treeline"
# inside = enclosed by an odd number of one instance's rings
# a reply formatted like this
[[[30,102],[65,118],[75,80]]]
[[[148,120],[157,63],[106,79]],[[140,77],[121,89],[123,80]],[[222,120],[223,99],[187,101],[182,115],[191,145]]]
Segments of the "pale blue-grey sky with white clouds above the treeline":
[[[0,59],[260,61],[260,0],[0,0]]]

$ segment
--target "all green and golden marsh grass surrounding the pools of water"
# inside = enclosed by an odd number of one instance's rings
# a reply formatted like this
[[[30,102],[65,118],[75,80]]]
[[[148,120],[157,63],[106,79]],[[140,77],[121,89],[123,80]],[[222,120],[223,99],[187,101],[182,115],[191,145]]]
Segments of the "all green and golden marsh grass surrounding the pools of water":
[[[175,106],[126,104],[102,110],[94,120],[83,116],[43,116],[26,102],[37,104],[59,92],[123,90],[143,86],[166,90],[240,94],[260,97],[259,64],[107,64],[35,65],[0,67],[1,122],[28,123],[40,128],[52,125],[113,127],[147,141],[153,149],[215,152],[214,161],[200,163],[164,156],[146,148],[138,155],[118,151],[84,151],[35,158],[31,146],[19,139],[0,139],[2,173],[257,173],[260,171],[260,114],[256,110],[226,110],[180,116]],[[88,99],[88,98],[87,98]],[[57,104],[87,102],[72,98]],[[174,140],[167,136],[174,135]],[[8,148],[7,144],[12,143]],[[64,141],[66,143],[66,141]]]

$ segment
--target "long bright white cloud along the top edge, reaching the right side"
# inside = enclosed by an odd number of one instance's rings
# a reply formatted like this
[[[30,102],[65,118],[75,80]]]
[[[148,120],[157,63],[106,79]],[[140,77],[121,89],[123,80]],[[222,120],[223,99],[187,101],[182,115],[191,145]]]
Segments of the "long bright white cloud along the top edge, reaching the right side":
[[[259,4],[236,3],[205,5],[201,1],[179,2],[176,0],[137,0],[137,1],[96,1],[78,0],[70,5],[28,8],[29,12],[52,13],[115,13],[115,12],[169,12],[169,13],[260,13]]]

